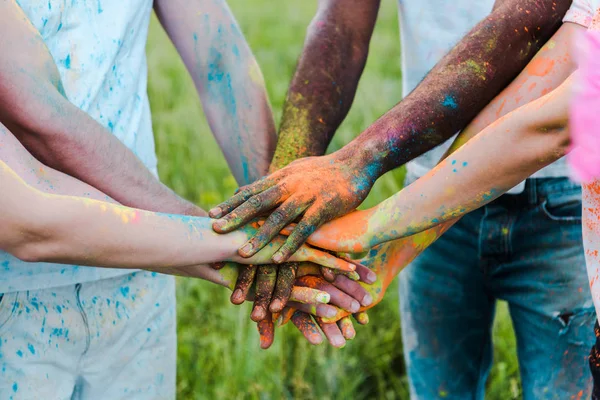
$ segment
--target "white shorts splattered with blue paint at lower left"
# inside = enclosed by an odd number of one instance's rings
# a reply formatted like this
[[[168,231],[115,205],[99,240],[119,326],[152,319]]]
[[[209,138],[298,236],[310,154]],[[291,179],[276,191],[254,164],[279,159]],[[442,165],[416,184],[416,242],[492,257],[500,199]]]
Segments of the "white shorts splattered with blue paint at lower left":
[[[175,325],[175,280],[156,273],[6,293],[0,399],[174,399]]]

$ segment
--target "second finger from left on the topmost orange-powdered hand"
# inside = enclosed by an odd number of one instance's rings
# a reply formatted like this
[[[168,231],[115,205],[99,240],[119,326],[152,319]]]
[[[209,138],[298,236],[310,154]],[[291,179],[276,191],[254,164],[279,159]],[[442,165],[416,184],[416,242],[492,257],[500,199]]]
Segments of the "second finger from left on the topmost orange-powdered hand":
[[[213,229],[220,233],[231,232],[244,226],[265,211],[275,208],[283,192],[278,186],[250,197],[241,206],[213,223]],[[268,242],[267,242],[268,243]],[[246,245],[247,246],[247,245]],[[244,247],[246,247],[244,246]]]

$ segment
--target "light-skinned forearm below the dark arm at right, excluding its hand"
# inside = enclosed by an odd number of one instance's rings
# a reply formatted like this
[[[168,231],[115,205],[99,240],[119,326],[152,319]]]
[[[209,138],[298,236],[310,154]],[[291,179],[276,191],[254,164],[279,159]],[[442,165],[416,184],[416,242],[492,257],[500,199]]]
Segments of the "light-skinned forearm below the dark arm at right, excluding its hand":
[[[460,217],[562,157],[572,78],[507,114],[423,178],[370,210],[372,240],[402,237]],[[383,220],[383,216],[386,217]]]

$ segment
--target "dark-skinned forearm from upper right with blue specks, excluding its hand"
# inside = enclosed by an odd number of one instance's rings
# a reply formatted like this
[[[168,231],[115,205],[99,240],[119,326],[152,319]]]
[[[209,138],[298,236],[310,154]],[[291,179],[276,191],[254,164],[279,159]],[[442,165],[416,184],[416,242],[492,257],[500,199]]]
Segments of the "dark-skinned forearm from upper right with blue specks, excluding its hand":
[[[570,3],[505,1],[339,156],[380,176],[441,144],[525,67],[560,26]]]

